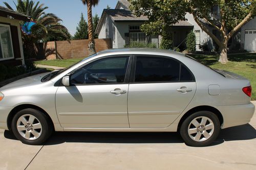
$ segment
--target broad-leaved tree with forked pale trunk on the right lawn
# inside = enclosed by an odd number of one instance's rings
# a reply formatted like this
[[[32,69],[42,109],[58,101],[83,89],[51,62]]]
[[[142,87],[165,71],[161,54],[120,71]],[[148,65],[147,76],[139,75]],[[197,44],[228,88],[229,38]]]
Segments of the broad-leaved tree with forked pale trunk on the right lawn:
[[[148,16],[149,20],[141,27],[146,33],[161,35],[178,20],[186,20],[187,12],[193,14],[201,29],[219,46],[221,63],[228,61],[228,40],[256,14],[255,0],[130,0],[130,2],[131,9],[137,16]],[[212,7],[219,7],[219,18],[210,16]],[[209,26],[220,33],[221,39],[211,32]]]

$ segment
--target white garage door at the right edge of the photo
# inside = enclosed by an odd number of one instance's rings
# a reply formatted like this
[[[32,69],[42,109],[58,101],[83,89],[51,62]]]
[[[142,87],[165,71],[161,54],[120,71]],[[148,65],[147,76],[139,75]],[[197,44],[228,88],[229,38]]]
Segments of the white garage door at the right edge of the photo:
[[[248,52],[256,52],[256,29],[245,30],[244,49]]]

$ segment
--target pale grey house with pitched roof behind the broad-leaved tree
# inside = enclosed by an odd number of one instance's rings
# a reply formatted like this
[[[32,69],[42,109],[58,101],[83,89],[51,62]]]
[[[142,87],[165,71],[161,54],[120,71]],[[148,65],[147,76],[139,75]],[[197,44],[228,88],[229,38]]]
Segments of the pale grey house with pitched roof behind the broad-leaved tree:
[[[113,48],[122,48],[131,41],[152,42],[159,46],[161,36],[146,35],[140,31],[140,26],[148,20],[146,16],[136,17],[129,9],[130,3],[119,0],[115,9],[104,9],[96,28],[99,38],[111,38]],[[220,17],[218,7],[213,7],[211,17]],[[173,46],[185,48],[187,34],[193,30],[196,35],[196,50],[200,51],[200,44],[206,44],[209,51],[216,50],[218,45],[197,24],[192,14],[185,15],[186,21],[179,21],[170,27],[169,33],[173,39]],[[206,23],[205,23],[206,24]],[[220,38],[220,34],[211,26],[206,26]],[[248,35],[247,35],[248,34]],[[256,21],[252,19],[229,41],[230,48],[244,48],[247,51],[256,51]]]

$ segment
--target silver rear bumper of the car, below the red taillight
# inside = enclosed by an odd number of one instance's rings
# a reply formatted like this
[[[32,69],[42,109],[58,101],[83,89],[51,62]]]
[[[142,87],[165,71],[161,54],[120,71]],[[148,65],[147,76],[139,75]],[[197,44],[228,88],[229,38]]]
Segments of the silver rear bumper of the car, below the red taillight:
[[[246,105],[230,105],[230,106],[217,106],[216,107],[223,116],[222,129],[244,125],[250,122],[255,106],[250,103]]]

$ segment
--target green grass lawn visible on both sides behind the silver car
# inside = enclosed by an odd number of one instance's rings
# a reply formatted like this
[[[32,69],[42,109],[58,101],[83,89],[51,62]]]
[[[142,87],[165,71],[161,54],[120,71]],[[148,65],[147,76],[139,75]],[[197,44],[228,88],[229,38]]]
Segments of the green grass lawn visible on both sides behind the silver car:
[[[251,81],[252,86],[252,100],[256,100],[256,53],[228,55],[229,62],[221,64],[217,61],[218,55],[190,55],[200,62],[212,67],[234,72]],[[78,61],[79,59],[68,60],[42,60],[36,61],[37,64],[53,65],[59,67],[68,67]]]

